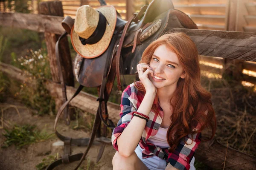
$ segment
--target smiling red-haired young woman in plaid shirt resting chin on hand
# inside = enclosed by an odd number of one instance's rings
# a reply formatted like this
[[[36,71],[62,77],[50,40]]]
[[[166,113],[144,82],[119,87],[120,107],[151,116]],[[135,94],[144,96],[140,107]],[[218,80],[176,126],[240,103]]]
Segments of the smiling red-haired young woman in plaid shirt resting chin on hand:
[[[113,170],[193,170],[201,131],[215,134],[211,94],[200,84],[198,51],[184,33],[152,42],[123,91],[112,133]]]

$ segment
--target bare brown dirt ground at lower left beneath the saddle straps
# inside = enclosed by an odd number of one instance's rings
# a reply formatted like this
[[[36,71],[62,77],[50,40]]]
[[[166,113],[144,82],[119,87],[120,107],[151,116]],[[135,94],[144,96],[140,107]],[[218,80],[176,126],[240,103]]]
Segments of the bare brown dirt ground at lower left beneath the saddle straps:
[[[5,103],[0,103],[0,107],[5,107],[8,105],[15,105],[19,112],[15,111],[15,108],[9,108],[4,112],[3,118],[10,125],[36,125],[39,129],[46,129],[49,133],[53,133],[54,117],[52,116],[37,116],[32,115],[32,110],[26,108],[25,105],[17,102],[13,99],[7,99]],[[72,137],[90,137],[90,133],[76,131],[68,126],[64,125],[62,121],[58,123],[58,130],[66,135]],[[3,144],[5,137],[3,134],[5,130],[0,129],[0,145]],[[109,136],[108,136],[109,137]],[[35,165],[39,164],[42,159],[47,158],[49,155],[55,155],[57,152],[59,155],[62,155],[63,150],[59,147],[57,150],[52,147],[54,142],[59,141],[57,137],[53,137],[44,142],[38,142],[31,144],[29,146],[24,146],[20,150],[17,150],[14,145],[8,148],[0,148],[0,170],[36,170]],[[87,161],[90,160],[90,170],[112,170],[112,158],[116,150],[113,149],[112,145],[106,145],[104,153],[101,160],[95,164],[96,157],[99,152],[100,146],[93,144],[90,148],[89,153],[87,154],[87,159],[84,160],[81,167],[87,168]],[[73,153],[81,153],[86,150],[86,147],[71,147]],[[55,170],[70,170],[73,169],[78,164],[78,161],[71,164],[64,164],[55,168]]]

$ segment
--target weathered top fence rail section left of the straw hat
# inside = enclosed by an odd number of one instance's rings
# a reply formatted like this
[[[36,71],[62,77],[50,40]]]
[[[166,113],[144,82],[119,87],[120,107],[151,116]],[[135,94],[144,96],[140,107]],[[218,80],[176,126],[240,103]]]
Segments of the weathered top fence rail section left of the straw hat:
[[[38,32],[51,32],[61,34],[64,28],[61,21],[64,17],[42,15],[42,14],[25,14],[25,13],[0,13],[0,26],[29,29]]]

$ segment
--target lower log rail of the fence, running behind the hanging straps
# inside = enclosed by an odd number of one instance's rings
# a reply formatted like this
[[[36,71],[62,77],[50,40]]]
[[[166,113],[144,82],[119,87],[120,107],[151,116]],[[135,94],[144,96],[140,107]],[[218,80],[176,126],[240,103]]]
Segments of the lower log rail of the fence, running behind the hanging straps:
[[[24,80],[20,78],[20,75],[22,75],[22,71],[20,69],[15,68],[11,65],[3,64],[1,62],[0,71],[2,71],[4,74],[7,74],[9,77],[12,76],[12,78],[20,80],[21,82],[23,82],[26,79],[26,77],[24,77]],[[26,81],[32,80],[26,79]],[[44,81],[44,85],[53,97],[62,97],[60,84],[46,79]],[[75,88],[67,86],[68,99],[71,95],[75,93],[75,91]],[[96,96],[87,94],[82,91],[70,102],[70,105],[79,107],[83,111],[88,111],[90,113],[96,114],[96,110],[99,106],[99,102],[97,102],[96,99]],[[112,102],[108,102],[109,118],[115,124],[119,120],[119,111],[119,105],[116,105]],[[208,136],[207,134],[208,133],[206,131],[205,133],[203,133],[203,136]],[[198,147],[198,150],[195,153],[195,157],[196,159],[203,161],[204,164],[210,167],[214,167],[216,169],[223,169],[222,163],[225,161],[226,148],[227,147],[218,144],[218,142],[213,142],[213,144],[210,146],[209,142],[201,142],[201,144]],[[247,155],[237,150],[228,148],[225,168],[229,170],[247,170],[253,169],[254,167],[256,167],[256,158],[254,156]]]

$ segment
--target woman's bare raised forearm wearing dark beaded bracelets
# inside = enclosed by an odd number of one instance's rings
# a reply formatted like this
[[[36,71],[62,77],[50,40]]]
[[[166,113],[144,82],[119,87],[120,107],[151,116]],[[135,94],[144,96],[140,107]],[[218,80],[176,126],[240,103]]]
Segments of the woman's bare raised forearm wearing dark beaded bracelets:
[[[152,93],[146,93],[137,112],[148,116],[152,108],[154,98],[154,91]],[[131,122],[128,124],[122,134],[117,138],[117,144],[119,148],[118,150],[122,156],[128,157],[134,152],[137,144],[140,142],[140,138],[142,136],[145,125],[145,119],[141,119],[136,116],[131,119]]]

